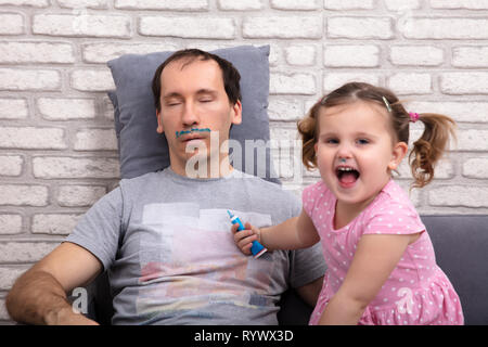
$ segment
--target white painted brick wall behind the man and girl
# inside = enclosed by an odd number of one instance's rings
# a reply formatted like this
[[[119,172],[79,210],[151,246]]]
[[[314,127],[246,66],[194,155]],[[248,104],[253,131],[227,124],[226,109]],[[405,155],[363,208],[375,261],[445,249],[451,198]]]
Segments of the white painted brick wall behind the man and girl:
[[[0,0],[0,323],[15,278],[118,180],[106,61],[270,44],[273,140],[346,81],[389,87],[459,125],[435,181],[412,192],[419,210],[487,214],[487,18],[485,0]],[[299,194],[319,175],[294,180],[287,150],[272,153]]]

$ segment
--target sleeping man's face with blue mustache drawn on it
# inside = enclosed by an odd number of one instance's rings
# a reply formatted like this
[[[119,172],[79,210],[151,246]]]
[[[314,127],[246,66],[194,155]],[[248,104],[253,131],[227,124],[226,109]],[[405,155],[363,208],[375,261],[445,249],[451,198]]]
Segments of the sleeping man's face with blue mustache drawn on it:
[[[229,139],[231,125],[242,120],[241,102],[229,102],[217,62],[196,59],[185,63],[184,59],[175,61],[163,69],[157,112],[157,131],[165,132],[168,140],[171,168],[182,176],[189,176],[185,165],[195,154],[205,156],[207,162],[211,153],[219,163],[227,158],[228,153],[219,153],[220,144]],[[210,131],[214,137],[218,134],[217,147],[215,141],[210,147]],[[187,153],[187,146],[206,151]]]

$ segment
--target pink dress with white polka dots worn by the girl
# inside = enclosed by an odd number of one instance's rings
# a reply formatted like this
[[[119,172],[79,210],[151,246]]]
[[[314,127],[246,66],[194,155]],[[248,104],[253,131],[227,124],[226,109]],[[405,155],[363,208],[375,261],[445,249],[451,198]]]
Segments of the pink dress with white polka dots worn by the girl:
[[[403,190],[390,180],[351,222],[334,230],[336,198],[320,181],[303,193],[304,209],[320,235],[328,271],[310,324],[318,324],[341,287],[363,234],[411,234],[425,230]],[[437,266],[427,232],[407,247],[397,267],[365,308],[363,325],[463,324],[458,294]]]

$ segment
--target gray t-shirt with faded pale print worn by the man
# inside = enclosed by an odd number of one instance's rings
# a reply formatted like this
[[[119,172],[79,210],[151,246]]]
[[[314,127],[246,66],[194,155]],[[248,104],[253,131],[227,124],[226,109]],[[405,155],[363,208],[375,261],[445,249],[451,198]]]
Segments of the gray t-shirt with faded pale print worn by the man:
[[[323,275],[320,245],[245,256],[228,209],[265,227],[297,216],[300,203],[237,170],[191,179],[167,168],[121,180],[66,241],[108,270],[113,324],[277,324],[275,304],[288,285]]]

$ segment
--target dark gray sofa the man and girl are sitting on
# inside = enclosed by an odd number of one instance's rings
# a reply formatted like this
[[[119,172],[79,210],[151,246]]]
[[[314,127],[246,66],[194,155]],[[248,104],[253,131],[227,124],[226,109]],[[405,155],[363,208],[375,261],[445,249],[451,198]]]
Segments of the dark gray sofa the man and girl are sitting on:
[[[465,324],[488,324],[488,216],[422,216],[438,265],[451,280],[463,306]],[[110,324],[112,300],[105,274],[89,286],[88,316]],[[307,324],[311,313],[293,292],[283,296],[279,312],[282,325]]]

